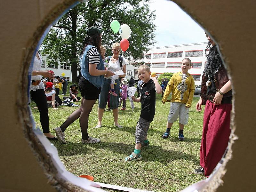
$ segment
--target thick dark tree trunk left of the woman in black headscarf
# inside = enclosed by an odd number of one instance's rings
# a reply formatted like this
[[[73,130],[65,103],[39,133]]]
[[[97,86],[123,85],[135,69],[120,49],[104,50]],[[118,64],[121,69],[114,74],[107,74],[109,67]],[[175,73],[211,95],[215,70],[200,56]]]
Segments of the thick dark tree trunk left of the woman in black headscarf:
[[[72,21],[72,31],[71,31],[71,60],[70,60],[70,66],[71,66],[71,74],[72,74],[72,82],[78,83],[77,78],[77,60],[76,60],[76,20],[77,20],[77,10],[76,8],[72,9],[70,12],[71,21]]]

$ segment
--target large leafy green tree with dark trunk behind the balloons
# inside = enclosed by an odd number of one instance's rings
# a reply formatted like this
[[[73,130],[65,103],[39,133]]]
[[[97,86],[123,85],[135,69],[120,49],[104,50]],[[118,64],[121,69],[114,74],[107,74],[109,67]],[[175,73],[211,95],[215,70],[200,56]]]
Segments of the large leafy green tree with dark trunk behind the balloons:
[[[155,13],[150,12],[149,0],[90,0],[70,9],[57,21],[45,37],[42,53],[49,54],[48,61],[66,62],[71,66],[72,81],[78,82],[77,64],[86,29],[96,26],[102,30],[102,44],[107,55],[111,55],[111,46],[120,42],[121,37],[110,28],[114,19],[131,28],[130,47],[123,52],[124,57],[140,58],[147,47],[155,44]]]

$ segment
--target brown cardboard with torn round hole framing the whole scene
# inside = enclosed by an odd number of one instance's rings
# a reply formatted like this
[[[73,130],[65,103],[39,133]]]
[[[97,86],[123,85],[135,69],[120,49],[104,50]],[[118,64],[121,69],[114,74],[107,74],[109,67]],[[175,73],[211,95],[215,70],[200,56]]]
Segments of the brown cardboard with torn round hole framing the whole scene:
[[[44,31],[74,0],[37,0],[1,2],[1,65],[2,87],[6,82],[9,100],[1,107],[2,145],[1,191],[91,191],[61,178],[57,168],[39,137],[27,107],[28,68]],[[256,68],[252,66],[255,47],[253,25],[256,13],[254,1],[175,0],[183,10],[203,26],[218,42],[233,83],[233,111],[231,118],[230,147],[223,164],[212,179],[190,187],[201,191],[249,191],[255,188],[251,182],[255,166],[254,95]],[[248,14],[245,14],[248,13]],[[242,56],[244,57],[242,57]],[[249,74],[250,73],[250,74]],[[8,80],[7,80],[8,79]],[[250,84],[248,83],[250,82]],[[248,139],[248,133],[252,136]],[[24,137],[25,135],[25,137]],[[237,139],[238,138],[238,139]],[[236,142],[234,143],[234,140]],[[32,151],[31,151],[32,148]],[[232,158],[231,158],[232,157]],[[245,163],[245,164],[244,164]],[[38,166],[40,165],[40,166]],[[245,165],[245,166],[243,166]],[[244,171],[249,167],[250,171]],[[33,174],[31,173],[33,170]],[[241,179],[242,178],[242,179]],[[222,186],[220,186],[222,185]],[[189,187],[189,188],[190,188]],[[189,188],[185,190],[189,190]],[[93,189],[94,190],[94,189]],[[191,188],[192,190],[192,188]],[[190,191],[191,191],[190,190]]]

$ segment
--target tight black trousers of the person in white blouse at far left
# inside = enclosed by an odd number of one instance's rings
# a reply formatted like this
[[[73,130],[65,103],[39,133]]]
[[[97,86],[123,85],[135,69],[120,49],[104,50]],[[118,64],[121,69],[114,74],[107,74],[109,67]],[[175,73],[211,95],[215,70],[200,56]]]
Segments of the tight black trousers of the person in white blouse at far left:
[[[48,106],[43,89],[37,89],[36,91],[30,91],[31,98],[35,101],[36,106],[40,112],[40,123],[44,133],[49,133],[49,116]]]

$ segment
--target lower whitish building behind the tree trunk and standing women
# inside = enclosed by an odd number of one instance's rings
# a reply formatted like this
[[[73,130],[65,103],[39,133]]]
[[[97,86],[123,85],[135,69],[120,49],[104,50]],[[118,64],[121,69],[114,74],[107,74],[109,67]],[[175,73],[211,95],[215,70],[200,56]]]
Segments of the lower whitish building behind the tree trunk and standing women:
[[[64,79],[67,81],[72,81],[72,74],[71,74],[71,67],[68,66],[65,62],[60,62],[58,60],[58,64],[49,64],[46,62],[47,56],[43,56],[43,65],[42,70],[52,70],[55,74],[55,76],[62,76],[62,73],[65,73],[65,76],[63,76]],[[138,80],[138,68],[133,65],[128,65],[129,62],[127,59],[125,59],[126,62],[126,76],[125,78],[130,79],[131,76],[134,76],[135,80]],[[79,66],[77,66],[77,76],[79,74]]]

